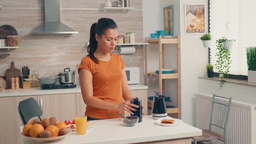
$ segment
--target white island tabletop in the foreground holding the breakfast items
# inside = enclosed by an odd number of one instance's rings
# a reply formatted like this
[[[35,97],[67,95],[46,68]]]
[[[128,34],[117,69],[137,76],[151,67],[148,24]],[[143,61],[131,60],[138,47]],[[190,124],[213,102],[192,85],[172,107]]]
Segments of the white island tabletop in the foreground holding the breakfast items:
[[[177,126],[161,126],[151,115],[144,116],[142,122],[132,127],[125,126],[121,118],[98,120],[85,135],[72,134],[54,142],[44,144],[131,144],[147,141],[161,141],[202,135],[202,130],[189,124]],[[23,126],[20,127],[22,131]],[[35,141],[22,137],[23,144],[37,144]]]

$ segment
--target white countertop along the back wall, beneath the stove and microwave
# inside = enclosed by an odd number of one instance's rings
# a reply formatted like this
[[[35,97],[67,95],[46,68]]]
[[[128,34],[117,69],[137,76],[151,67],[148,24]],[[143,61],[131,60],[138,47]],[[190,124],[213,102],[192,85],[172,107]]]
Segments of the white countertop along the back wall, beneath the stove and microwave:
[[[146,85],[129,85],[130,90],[148,89]],[[63,88],[63,89],[51,89],[45,90],[41,88],[31,88],[23,90],[0,91],[0,97],[12,97],[12,96],[28,96],[28,95],[54,95],[54,94],[69,94],[69,93],[81,93],[80,85],[76,88]]]

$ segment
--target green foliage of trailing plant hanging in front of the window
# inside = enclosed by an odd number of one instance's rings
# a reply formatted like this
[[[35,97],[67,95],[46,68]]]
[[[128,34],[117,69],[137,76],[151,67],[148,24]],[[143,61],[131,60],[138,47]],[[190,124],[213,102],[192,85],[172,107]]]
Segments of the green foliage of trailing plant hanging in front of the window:
[[[223,76],[221,77],[220,80],[220,87],[222,88],[222,85],[224,82],[226,82],[226,78],[229,75],[229,69],[230,69],[230,64],[232,62],[231,57],[231,52],[229,49],[225,49],[223,46],[223,42],[225,42],[227,39],[225,37],[222,37],[221,39],[217,39],[216,41],[216,46],[217,46],[217,61],[216,61],[216,69],[218,69],[218,72],[222,74]]]

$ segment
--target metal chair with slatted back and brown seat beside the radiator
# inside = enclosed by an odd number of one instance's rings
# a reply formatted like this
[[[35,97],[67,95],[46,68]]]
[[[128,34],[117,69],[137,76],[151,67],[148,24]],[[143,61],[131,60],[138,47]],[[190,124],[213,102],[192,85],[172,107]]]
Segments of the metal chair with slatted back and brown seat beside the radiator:
[[[225,102],[220,102],[219,98],[228,100],[228,104],[226,104]],[[224,98],[213,94],[209,129],[202,130],[203,135],[201,136],[191,137],[192,139],[194,139],[194,144],[202,141],[210,141],[211,144],[211,141],[213,139],[218,139],[226,144],[226,126],[230,112],[231,100],[232,98]],[[212,131],[213,127],[220,128],[220,130],[223,131],[223,134]]]

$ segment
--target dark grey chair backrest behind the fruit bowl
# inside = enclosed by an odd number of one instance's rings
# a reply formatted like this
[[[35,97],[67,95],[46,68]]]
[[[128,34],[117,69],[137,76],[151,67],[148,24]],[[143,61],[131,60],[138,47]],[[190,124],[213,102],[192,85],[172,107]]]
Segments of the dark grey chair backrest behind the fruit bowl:
[[[40,121],[42,121],[40,116],[43,115],[43,112],[34,98],[27,98],[20,101],[18,105],[18,112],[23,125],[27,124],[31,118],[36,116]]]

